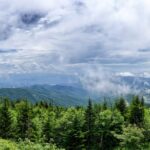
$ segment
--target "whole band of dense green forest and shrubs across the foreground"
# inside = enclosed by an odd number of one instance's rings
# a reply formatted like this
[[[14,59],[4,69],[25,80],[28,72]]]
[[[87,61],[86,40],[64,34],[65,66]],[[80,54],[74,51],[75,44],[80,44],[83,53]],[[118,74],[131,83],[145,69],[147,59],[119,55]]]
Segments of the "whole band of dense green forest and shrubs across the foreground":
[[[150,109],[134,96],[113,106],[61,107],[27,100],[0,101],[1,150],[150,149]]]

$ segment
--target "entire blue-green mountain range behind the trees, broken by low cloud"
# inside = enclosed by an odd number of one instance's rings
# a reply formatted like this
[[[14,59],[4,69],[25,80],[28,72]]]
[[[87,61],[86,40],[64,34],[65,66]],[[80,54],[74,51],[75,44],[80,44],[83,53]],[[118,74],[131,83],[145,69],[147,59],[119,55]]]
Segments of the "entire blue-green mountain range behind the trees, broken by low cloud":
[[[146,103],[150,104],[150,78],[148,77],[135,77],[128,75],[119,75],[118,82],[124,83],[132,90],[130,93],[123,96],[130,101],[131,96],[137,91],[136,94],[143,96]],[[103,101],[104,97],[113,101],[116,95],[112,93],[96,93],[93,94],[89,90],[84,89],[81,85],[33,85],[29,87],[16,87],[16,88],[0,88],[1,97],[9,97],[10,99],[28,99],[33,103],[44,100],[53,102],[56,105],[74,106],[85,105],[89,97],[94,99],[95,102]],[[120,95],[118,95],[120,96]]]

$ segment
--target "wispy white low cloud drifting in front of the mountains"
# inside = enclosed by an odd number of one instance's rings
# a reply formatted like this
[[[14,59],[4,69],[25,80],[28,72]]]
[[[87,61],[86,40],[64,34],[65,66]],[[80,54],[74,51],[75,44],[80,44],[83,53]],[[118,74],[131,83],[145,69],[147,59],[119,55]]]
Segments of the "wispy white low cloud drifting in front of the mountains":
[[[80,81],[85,89],[97,95],[126,95],[137,93],[136,87],[124,82],[112,72],[97,67],[84,70]]]

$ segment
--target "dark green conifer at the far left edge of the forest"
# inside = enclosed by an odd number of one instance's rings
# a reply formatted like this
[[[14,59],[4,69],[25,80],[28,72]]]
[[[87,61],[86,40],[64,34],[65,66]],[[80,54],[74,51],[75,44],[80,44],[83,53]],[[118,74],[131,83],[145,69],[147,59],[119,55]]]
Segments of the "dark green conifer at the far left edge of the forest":
[[[12,116],[9,111],[9,100],[4,99],[0,110],[0,136],[4,139],[12,136]]]

